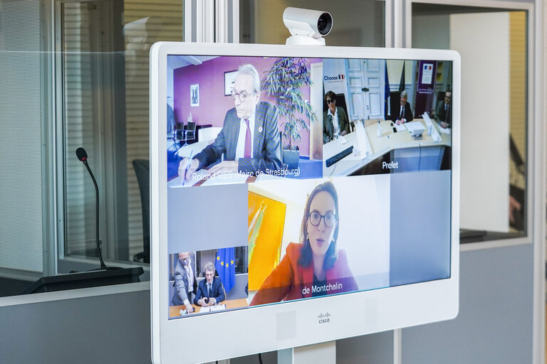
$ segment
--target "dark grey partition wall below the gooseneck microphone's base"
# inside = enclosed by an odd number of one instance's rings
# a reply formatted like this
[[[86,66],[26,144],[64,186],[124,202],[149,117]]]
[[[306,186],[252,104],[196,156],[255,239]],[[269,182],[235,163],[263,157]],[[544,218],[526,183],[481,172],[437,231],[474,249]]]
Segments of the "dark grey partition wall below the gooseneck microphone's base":
[[[151,363],[150,290],[0,307],[0,363]]]

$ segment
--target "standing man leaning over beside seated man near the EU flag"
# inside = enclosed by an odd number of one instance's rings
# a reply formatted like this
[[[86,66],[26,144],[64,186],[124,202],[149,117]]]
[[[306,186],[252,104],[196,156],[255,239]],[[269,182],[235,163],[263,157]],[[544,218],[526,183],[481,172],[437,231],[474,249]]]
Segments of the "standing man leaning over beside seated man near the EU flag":
[[[184,304],[188,313],[192,313],[189,308],[192,307],[192,297],[197,292],[197,282],[189,252],[179,253],[177,265],[174,267],[174,289],[171,305]]]

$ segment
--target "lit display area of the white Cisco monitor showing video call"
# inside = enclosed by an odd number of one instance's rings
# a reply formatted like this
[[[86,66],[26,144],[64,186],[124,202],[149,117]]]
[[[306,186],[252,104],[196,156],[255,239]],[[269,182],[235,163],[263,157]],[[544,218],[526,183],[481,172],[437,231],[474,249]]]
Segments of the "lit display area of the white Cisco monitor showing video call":
[[[167,70],[168,319],[450,277],[451,61]]]

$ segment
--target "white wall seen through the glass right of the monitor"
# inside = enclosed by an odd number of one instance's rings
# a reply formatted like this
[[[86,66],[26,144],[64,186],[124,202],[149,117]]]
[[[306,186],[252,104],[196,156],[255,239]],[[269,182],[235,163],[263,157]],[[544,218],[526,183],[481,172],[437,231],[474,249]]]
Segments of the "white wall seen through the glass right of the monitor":
[[[462,228],[509,231],[509,13],[450,15],[462,56]]]

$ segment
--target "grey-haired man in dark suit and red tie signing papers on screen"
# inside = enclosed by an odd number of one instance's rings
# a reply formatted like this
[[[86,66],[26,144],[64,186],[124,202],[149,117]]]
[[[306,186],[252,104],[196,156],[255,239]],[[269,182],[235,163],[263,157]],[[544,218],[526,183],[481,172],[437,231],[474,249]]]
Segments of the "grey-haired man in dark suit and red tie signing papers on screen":
[[[209,174],[231,171],[256,176],[266,169],[281,170],[277,109],[260,101],[260,77],[253,65],[239,66],[231,95],[235,107],[226,112],[217,139],[192,161],[180,161],[179,176],[187,181],[192,179],[192,173],[209,166]],[[212,166],[223,155],[224,161]]]

